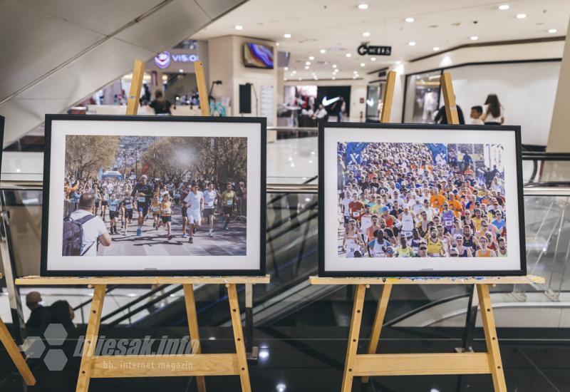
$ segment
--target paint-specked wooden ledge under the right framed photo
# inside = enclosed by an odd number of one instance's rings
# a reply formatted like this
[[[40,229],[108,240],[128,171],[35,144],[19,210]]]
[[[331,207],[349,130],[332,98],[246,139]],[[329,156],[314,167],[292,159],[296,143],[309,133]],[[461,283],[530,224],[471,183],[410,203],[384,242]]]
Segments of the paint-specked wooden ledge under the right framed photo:
[[[18,282],[16,280],[16,282]],[[311,284],[533,284],[544,283],[544,277],[309,277]]]

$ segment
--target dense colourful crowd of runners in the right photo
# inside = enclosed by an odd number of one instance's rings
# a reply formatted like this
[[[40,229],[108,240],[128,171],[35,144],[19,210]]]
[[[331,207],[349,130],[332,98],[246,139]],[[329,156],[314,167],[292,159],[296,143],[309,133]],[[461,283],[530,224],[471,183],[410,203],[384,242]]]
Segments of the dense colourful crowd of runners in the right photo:
[[[339,143],[339,254],[507,257],[504,174],[461,154],[368,143],[353,160]]]

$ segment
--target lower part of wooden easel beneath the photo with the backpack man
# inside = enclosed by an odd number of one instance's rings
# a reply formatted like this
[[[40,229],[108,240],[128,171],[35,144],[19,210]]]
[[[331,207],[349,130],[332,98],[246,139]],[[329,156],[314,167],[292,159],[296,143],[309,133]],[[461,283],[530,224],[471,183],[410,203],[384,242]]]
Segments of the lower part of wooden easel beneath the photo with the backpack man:
[[[93,302],[91,302],[85,343],[81,354],[77,392],[87,392],[91,378],[168,376],[195,376],[198,391],[205,392],[204,376],[230,375],[239,376],[242,381],[242,391],[250,392],[252,387],[249,383],[236,284],[266,283],[269,283],[269,275],[264,277],[24,277],[16,279],[16,284],[21,285],[87,284],[93,287]],[[192,354],[95,356],[101,310],[108,284],[182,284],[192,341]],[[201,354],[193,284],[224,284],[227,287],[229,312],[232,315],[236,345],[235,354]]]

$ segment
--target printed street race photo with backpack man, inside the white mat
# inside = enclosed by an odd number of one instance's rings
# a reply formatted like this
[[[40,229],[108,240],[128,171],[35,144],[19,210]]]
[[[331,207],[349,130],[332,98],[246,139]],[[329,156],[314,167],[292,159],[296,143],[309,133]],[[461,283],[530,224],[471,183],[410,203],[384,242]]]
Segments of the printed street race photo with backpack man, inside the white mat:
[[[66,135],[62,256],[244,256],[247,141]]]

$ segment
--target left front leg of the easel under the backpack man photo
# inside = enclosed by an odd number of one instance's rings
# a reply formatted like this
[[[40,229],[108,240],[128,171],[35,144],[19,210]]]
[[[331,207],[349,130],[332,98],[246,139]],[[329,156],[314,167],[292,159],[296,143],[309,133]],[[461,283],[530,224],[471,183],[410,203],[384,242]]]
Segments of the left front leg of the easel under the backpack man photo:
[[[89,390],[91,359],[93,358],[93,354],[95,354],[95,347],[97,346],[101,310],[103,309],[103,301],[105,300],[105,289],[107,289],[106,284],[95,285],[85,342],[83,343],[83,354],[81,354],[81,366],[79,368],[76,392],[87,392]]]

